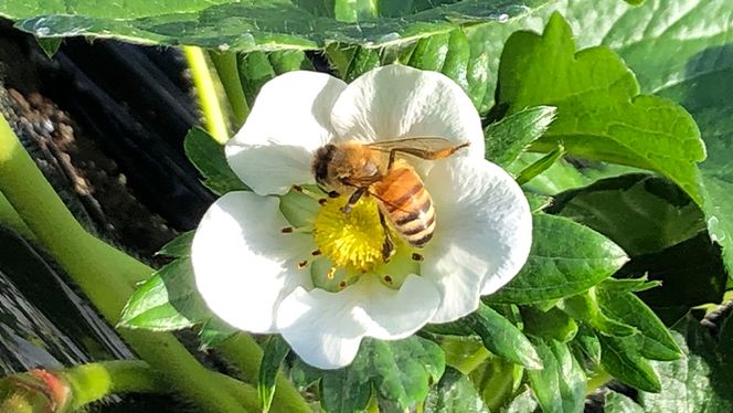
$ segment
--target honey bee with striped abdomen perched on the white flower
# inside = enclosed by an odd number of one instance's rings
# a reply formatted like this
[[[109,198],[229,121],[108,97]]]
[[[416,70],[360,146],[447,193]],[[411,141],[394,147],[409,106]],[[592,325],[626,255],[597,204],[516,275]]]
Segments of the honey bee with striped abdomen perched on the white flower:
[[[431,241],[435,230],[433,199],[403,156],[437,160],[469,144],[454,146],[438,137],[329,144],[318,149],[311,168],[316,182],[330,190],[331,195],[350,194],[342,209],[344,213],[349,213],[361,197],[374,197],[386,235],[382,255],[387,261],[394,251],[394,243],[390,239],[386,221],[405,242],[417,248]]]

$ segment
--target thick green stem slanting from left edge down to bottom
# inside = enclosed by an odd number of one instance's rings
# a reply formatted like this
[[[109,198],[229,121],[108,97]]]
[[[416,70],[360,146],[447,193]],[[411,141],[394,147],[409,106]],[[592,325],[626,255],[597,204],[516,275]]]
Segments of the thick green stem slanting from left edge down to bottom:
[[[152,269],[87,233],[66,209],[0,117],[0,192],[41,245],[68,273],[108,322],[119,319],[134,284]],[[170,333],[123,330],[141,359],[166,375],[182,395],[209,412],[242,411],[240,394],[221,385]]]

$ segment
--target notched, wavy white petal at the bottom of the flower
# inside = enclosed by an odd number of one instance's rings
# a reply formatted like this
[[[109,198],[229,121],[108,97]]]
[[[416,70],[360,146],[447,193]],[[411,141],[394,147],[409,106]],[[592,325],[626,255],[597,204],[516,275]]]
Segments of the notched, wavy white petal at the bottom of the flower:
[[[415,275],[399,292],[362,277],[339,293],[296,289],[280,304],[277,327],[304,361],[338,369],[353,360],[362,337],[407,337],[425,325],[438,301],[435,287]]]

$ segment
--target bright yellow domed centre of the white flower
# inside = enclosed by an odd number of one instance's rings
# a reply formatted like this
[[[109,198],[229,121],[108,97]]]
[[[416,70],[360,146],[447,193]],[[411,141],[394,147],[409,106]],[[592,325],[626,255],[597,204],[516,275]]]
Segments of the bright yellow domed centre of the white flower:
[[[383,262],[384,227],[373,199],[362,197],[350,212],[343,212],[348,197],[330,199],[314,222],[318,251],[337,267],[366,272]]]

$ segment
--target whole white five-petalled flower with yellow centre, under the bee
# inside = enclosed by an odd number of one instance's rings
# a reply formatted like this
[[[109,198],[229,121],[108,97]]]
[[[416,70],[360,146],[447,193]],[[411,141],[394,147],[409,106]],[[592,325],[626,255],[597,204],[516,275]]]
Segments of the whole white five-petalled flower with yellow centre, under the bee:
[[[342,199],[321,205],[312,156],[327,142],[421,136],[470,146],[414,160],[433,197],[434,236],[419,251],[397,241],[383,263],[373,254],[384,237],[375,203],[366,197],[349,214]],[[349,364],[363,337],[401,339],[470,314],[527,261],[527,199],[484,159],[474,105],[439,73],[391,65],[349,85],[322,73],[280,75],[263,86],[226,157],[254,192],[227,193],[203,218],[192,246],[198,288],[224,321],[281,333],[318,368]],[[411,258],[416,251],[422,261]]]

